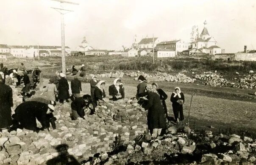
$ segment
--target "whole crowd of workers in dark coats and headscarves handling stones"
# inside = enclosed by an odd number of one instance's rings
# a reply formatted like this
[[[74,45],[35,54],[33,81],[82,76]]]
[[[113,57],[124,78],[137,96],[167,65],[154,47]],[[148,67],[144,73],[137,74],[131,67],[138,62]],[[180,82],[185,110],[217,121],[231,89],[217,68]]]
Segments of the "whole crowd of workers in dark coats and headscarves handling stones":
[[[82,66],[81,68],[83,68]],[[24,67],[25,68],[25,67]],[[73,66],[74,68],[74,66]],[[86,75],[85,68],[83,68],[83,76]],[[24,69],[25,72],[25,69]],[[64,73],[56,72],[56,76],[50,78],[49,83],[44,87],[41,95],[46,97],[35,97],[31,100],[25,101],[18,105],[11,112],[13,106],[12,89],[5,80],[0,76],[0,129],[4,132],[11,128],[22,127],[28,130],[38,131],[36,119],[41,123],[42,128],[47,133],[49,132],[50,125],[53,129],[56,128],[53,111],[57,102],[63,105],[64,102],[71,103],[73,120],[83,118],[86,114],[93,114],[95,107],[99,102],[108,102],[109,100],[117,101],[125,99],[125,87],[120,78],[116,78],[112,85],[109,86],[109,97],[106,97],[105,85],[103,80],[97,80],[96,76],[92,76],[90,83],[90,95],[81,96],[82,86],[78,76],[72,72],[74,78],[70,86]],[[139,84],[135,98],[138,103],[148,110],[147,112],[147,125],[150,130],[152,138],[161,135],[161,130],[167,127],[168,111],[167,111],[167,94],[158,86],[157,83],[148,84],[144,76],[139,76]],[[28,93],[31,82],[30,77],[25,73],[23,77],[24,88],[23,92]],[[46,99],[45,99],[46,98]],[[170,96],[172,102],[173,113],[175,122],[184,120],[183,104],[184,94],[179,87]],[[178,117],[180,115],[180,117]]]

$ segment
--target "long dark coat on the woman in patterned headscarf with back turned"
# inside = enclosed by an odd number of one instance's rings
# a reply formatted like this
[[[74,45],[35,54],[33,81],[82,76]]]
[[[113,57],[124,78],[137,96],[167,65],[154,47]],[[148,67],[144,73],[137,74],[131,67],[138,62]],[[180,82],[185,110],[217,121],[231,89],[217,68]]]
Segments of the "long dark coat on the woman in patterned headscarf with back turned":
[[[145,106],[145,109],[148,109],[147,125],[149,130],[155,128],[165,128],[165,113],[159,95],[154,92],[148,92],[147,99],[148,103]]]

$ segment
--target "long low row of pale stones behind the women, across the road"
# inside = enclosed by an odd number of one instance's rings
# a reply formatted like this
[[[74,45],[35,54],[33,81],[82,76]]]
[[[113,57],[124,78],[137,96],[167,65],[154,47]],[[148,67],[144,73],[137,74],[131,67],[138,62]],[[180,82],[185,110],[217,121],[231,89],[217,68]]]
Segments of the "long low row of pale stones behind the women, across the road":
[[[138,77],[140,75],[142,75],[147,80],[150,80],[150,81],[170,81],[170,82],[181,82],[181,83],[193,83],[195,81],[195,78],[190,78],[190,77],[184,75],[184,73],[178,73],[175,76],[173,76],[168,73],[157,72],[154,75],[149,75],[147,73],[137,71],[136,73],[132,72],[132,73],[128,73],[126,75],[128,75],[130,77],[135,77],[134,78],[135,80],[138,80]]]

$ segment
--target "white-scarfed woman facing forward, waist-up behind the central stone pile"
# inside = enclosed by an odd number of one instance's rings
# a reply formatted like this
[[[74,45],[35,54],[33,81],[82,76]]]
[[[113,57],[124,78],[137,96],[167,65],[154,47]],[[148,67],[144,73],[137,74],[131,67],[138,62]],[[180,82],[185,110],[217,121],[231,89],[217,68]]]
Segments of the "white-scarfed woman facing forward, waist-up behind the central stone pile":
[[[125,93],[122,90],[122,86],[121,84],[121,80],[120,78],[116,78],[114,80],[114,84],[112,84],[111,86],[109,86],[109,95],[112,96],[111,100],[120,100],[125,98]]]

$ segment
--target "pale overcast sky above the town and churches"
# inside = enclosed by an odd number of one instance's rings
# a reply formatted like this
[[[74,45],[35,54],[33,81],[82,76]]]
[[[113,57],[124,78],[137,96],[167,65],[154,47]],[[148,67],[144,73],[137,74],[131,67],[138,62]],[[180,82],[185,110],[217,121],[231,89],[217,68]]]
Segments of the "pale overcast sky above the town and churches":
[[[189,41],[193,25],[226,52],[256,49],[256,0],[69,0],[65,15],[66,46],[83,36],[96,49],[131,46],[134,35]],[[0,0],[0,44],[61,45],[59,7],[52,0]]]

